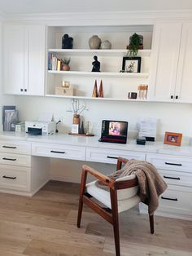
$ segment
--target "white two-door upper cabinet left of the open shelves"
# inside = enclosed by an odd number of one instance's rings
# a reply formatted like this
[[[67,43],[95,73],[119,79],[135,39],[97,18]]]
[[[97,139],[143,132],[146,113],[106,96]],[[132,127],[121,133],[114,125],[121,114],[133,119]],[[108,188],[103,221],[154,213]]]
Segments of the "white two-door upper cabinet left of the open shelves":
[[[44,95],[45,26],[5,25],[3,50],[4,93]]]

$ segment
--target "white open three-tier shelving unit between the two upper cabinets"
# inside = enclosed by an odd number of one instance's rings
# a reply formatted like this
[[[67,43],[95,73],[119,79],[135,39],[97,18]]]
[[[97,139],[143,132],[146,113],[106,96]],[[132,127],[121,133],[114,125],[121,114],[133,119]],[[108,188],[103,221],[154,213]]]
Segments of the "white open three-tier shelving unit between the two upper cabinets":
[[[139,29],[140,28],[140,29]],[[142,28],[142,29],[141,29]],[[142,32],[140,32],[142,31]],[[47,42],[47,73],[46,96],[73,99],[94,100],[130,100],[130,91],[137,92],[137,86],[149,83],[152,26],[122,26],[122,27],[48,27]],[[73,38],[73,49],[61,49],[64,33]],[[127,56],[126,44],[133,33],[142,33],[144,37],[144,50],[139,50],[137,56],[142,57],[140,73],[122,73],[122,60]],[[88,41],[93,34],[103,40],[111,42],[111,49],[89,49]],[[145,41],[146,40],[146,41]],[[70,58],[70,71],[48,70],[48,54],[52,53],[58,59]],[[101,72],[91,72],[94,55],[98,56]],[[97,80],[98,88],[103,81],[104,98],[92,98],[94,82]],[[55,95],[55,86],[61,86],[62,81],[68,81],[76,89],[72,96]],[[145,99],[146,101],[146,99]]]

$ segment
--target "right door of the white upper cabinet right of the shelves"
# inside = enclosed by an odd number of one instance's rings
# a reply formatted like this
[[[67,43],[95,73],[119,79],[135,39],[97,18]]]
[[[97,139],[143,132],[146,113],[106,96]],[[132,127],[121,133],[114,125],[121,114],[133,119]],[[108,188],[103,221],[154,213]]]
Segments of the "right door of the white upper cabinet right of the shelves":
[[[177,101],[186,103],[192,103],[191,42],[192,23],[183,24],[175,95],[177,95]]]

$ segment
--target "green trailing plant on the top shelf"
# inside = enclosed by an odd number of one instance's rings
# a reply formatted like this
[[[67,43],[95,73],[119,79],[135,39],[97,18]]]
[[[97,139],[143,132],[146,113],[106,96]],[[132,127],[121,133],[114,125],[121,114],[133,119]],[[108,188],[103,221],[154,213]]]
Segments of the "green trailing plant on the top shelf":
[[[142,46],[142,36],[137,33],[133,33],[133,35],[129,38],[129,49],[128,56],[135,57],[137,55],[138,49],[141,49]]]

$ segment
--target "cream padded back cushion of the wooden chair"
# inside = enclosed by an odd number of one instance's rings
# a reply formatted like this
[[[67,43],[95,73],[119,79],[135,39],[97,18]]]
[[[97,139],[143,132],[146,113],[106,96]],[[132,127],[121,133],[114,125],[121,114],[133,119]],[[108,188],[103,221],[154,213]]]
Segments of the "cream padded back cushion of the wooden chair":
[[[137,180],[137,176],[135,174],[130,174],[128,176],[124,176],[122,178],[116,179],[116,182],[123,182],[123,181],[133,181]],[[128,188],[124,189],[118,189],[117,190],[117,200],[126,200],[129,199],[130,197],[136,196],[138,191],[138,185],[133,186],[129,188],[129,183],[128,183]]]

